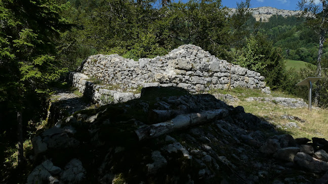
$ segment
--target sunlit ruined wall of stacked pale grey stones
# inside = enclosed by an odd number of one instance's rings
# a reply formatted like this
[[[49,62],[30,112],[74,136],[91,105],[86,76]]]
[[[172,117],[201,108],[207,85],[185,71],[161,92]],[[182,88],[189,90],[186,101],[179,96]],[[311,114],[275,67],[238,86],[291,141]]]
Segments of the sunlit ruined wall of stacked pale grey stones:
[[[88,80],[88,76],[121,89],[177,86],[190,92],[201,92],[227,89],[230,85],[231,88],[261,89],[270,93],[260,73],[229,64],[226,60],[218,59],[208,51],[190,44],[182,45],[165,56],[141,58],[139,62],[117,54],[92,55],[83,62],[78,72],[71,73],[69,80],[74,87],[93,98],[94,102],[99,101],[102,94],[116,96],[113,99],[115,102],[126,101],[122,98],[127,96],[128,100],[134,99],[138,95],[94,85]]]

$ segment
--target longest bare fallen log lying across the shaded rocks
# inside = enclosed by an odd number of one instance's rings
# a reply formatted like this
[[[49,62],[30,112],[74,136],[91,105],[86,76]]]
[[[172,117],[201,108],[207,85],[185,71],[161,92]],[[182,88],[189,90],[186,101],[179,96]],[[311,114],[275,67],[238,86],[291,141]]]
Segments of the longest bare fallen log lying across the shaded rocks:
[[[135,130],[139,141],[155,138],[178,129],[183,129],[192,125],[203,124],[210,120],[224,118],[228,115],[227,109],[208,110],[199,113],[179,114],[171,120],[153,125],[144,125]]]

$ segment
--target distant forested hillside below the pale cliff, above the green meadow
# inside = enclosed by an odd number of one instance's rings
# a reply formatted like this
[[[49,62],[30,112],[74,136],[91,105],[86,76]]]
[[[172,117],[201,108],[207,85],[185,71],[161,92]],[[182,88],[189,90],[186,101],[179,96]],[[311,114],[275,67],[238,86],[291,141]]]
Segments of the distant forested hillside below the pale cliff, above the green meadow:
[[[254,23],[255,19],[251,22]],[[316,64],[318,55],[317,35],[312,29],[304,25],[303,18],[295,16],[283,18],[272,16],[269,22],[259,25],[259,32],[266,34],[273,42],[273,46],[280,47],[286,59],[303,60]],[[327,58],[327,48],[324,47],[324,57]]]

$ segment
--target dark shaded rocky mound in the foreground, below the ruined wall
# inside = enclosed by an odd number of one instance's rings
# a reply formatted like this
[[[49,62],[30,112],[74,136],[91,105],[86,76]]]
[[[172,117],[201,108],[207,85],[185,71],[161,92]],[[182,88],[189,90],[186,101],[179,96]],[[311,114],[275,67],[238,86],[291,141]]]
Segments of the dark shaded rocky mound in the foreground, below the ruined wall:
[[[311,183],[328,169],[325,140],[276,134],[212,95],[148,87],[37,135],[27,183]]]

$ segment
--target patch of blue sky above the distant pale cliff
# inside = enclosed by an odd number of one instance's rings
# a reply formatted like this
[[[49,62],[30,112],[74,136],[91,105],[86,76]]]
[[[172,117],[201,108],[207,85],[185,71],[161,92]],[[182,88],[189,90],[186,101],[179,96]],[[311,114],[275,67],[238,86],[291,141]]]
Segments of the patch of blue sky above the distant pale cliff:
[[[241,0],[222,0],[222,5],[229,8],[236,8],[236,2]],[[283,10],[298,10],[298,0],[251,0],[251,8],[274,7]]]

